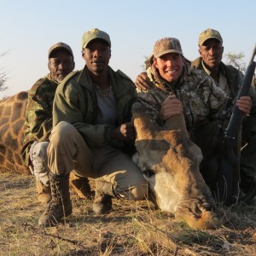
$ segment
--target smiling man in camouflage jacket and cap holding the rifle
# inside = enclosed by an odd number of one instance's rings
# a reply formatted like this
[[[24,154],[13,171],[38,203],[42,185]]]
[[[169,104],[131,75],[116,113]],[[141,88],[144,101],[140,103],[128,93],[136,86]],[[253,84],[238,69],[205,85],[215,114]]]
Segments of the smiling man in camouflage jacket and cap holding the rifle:
[[[177,38],[161,38],[154,44],[147,77],[150,80],[148,89],[138,95],[147,108],[146,113],[159,125],[173,115],[184,114],[189,134],[204,156],[202,175],[217,195],[218,167],[216,160],[212,159],[215,155],[212,138],[218,129],[218,115],[224,106],[224,91],[204,71],[189,67]],[[249,113],[251,98],[241,97],[236,106],[243,113]],[[234,189],[236,185],[237,180]]]

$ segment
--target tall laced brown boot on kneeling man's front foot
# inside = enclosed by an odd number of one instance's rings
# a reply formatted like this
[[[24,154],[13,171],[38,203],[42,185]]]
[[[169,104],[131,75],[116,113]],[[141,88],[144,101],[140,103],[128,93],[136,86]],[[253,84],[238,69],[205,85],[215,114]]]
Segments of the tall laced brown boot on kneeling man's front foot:
[[[38,220],[38,224],[44,227],[55,226],[62,218],[67,218],[72,213],[69,175],[62,177],[49,172],[49,183],[52,198]]]

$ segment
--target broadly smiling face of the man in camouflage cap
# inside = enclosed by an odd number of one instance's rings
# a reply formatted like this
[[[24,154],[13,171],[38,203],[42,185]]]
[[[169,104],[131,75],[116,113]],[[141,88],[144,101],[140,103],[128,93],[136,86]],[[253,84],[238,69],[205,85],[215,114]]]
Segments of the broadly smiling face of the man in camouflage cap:
[[[158,69],[160,76],[167,82],[176,82],[183,73],[183,55],[168,53],[154,59],[154,66]]]

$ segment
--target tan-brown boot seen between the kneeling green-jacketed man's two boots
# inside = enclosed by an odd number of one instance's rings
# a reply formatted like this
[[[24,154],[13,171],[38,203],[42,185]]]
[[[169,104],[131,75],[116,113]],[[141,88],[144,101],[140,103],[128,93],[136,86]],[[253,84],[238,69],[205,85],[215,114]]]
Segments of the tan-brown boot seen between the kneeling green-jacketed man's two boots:
[[[76,176],[74,172],[70,172],[69,188],[73,189],[81,199],[90,199],[93,195],[88,178]]]

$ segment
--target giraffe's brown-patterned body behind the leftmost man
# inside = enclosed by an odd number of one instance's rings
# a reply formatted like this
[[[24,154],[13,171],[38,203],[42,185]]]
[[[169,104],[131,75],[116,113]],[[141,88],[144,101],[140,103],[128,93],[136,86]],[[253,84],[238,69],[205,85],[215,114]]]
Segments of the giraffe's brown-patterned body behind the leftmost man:
[[[0,101],[0,172],[29,174],[21,158],[27,92]]]

